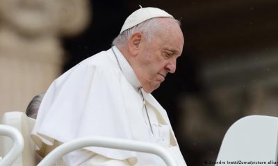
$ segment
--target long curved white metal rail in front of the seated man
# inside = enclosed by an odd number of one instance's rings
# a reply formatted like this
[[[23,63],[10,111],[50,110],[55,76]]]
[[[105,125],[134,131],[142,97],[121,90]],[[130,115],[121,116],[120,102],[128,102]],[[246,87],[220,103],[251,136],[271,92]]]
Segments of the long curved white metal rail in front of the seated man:
[[[73,140],[72,142],[64,143],[63,145],[56,147],[56,149],[54,149],[47,156],[45,156],[44,159],[38,164],[38,166],[54,165],[59,158],[69,153],[70,151],[91,146],[108,147],[113,149],[125,149],[130,151],[140,151],[149,154],[155,154],[161,157],[166,163],[166,165],[177,166],[177,163],[174,160],[174,158],[166,149],[164,149],[161,146],[136,140],[124,140],[105,137],[79,138]]]

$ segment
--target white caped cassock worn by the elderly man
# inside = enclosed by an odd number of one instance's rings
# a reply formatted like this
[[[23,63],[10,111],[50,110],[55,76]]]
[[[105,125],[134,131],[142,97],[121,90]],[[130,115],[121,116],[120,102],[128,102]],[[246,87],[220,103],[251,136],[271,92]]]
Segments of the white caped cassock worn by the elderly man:
[[[115,46],[85,59],[58,77],[44,95],[32,132],[35,142],[40,147],[42,142],[54,145],[54,140],[69,142],[88,136],[140,140],[165,147],[180,166],[186,165],[166,111],[140,86]],[[165,165],[153,154],[102,147],[84,149],[66,155],[65,163],[81,165],[90,159],[106,165]]]

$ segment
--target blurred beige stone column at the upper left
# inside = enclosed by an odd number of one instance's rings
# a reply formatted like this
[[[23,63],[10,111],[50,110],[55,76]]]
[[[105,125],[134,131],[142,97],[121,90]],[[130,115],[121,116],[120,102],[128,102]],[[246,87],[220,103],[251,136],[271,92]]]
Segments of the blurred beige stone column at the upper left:
[[[86,0],[0,0],[0,116],[25,111],[60,75],[60,37],[88,24]]]

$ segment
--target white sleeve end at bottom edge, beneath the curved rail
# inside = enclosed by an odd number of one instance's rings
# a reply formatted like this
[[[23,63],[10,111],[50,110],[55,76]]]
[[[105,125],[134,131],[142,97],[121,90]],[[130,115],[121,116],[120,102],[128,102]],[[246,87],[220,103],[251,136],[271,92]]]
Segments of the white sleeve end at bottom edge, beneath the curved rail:
[[[129,164],[128,160],[115,160],[112,158],[107,158],[105,156],[101,156],[99,154],[90,158],[90,160],[83,163],[82,166],[132,166]]]

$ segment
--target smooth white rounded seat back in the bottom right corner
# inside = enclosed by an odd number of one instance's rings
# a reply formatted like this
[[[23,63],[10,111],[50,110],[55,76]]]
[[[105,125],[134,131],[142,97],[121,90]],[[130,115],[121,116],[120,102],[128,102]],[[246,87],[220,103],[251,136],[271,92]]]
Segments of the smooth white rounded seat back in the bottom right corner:
[[[228,129],[215,166],[274,166],[277,165],[273,162],[278,159],[277,149],[278,118],[247,116],[235,122]],[[265,164],[260,162],[265,162]]]

